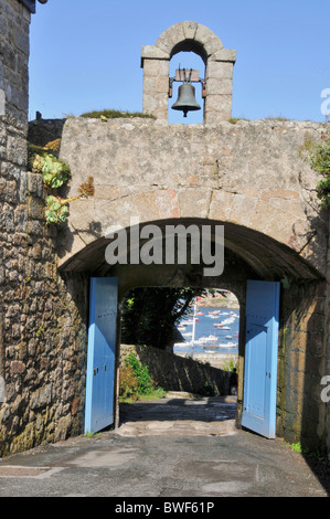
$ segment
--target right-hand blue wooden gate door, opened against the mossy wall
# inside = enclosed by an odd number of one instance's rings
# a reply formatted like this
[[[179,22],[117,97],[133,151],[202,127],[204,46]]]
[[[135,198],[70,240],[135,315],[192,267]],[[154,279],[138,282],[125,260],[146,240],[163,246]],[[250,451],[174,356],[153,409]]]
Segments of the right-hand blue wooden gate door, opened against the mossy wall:
[[[280,284],[247,282],[242,425],[267,438],[276,433]]]

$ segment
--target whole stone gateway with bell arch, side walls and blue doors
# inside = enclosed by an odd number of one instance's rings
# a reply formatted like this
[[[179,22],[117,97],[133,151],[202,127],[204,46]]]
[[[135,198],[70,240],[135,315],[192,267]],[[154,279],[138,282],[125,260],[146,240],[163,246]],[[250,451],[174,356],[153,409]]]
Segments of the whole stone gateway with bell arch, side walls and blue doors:
[[[35,2],[11,3],[28,24]],[[201,125],[168,124],[169,63],[181,51],[196,53],[205,65]],[[28,171],[21,156],[24,129],[13,117],[24,121],[26,107],[21,115],[6,98],[0,455],[116,424],[117,304],[127,290],[148,286],[232,290],[241,305],[237,425],[329,448],[321,399],[329,374],[328,221],[316,197],[318,176],[299,156],[306,135],[319,139],[324,127],[233,124],[235,60],[211,30],[184,21],[142,47],[143,112],[151,118],[33,121],[29,140],[42,145],[63,126],[61,158],[72,171],[67,197],[94,178],[94,198],[72,203],[60,227],[46,227],[41,176]],[[26,77],[21,83],[24,89]],[[46,140],[33,140],[43,131]],[[178,226],[194,237],[204,229],[204,240],[185,240],[187,261],[166,261],[180,248],[167,256],[166,230]],[[114,230],[126,237],[127,261],[111,264]],[[153,263],[141,258],[150,230],[162,246]],[[137,235],[141,240],[131,240]],[[98,403],[106,412],[93,424]]]

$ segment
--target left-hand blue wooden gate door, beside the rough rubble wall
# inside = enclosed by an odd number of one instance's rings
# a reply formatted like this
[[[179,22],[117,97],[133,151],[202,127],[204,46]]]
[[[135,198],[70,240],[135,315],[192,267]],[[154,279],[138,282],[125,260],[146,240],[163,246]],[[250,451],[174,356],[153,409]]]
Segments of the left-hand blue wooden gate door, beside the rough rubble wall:
[[[91,279],[85,433],[114,423],[118,278]]]

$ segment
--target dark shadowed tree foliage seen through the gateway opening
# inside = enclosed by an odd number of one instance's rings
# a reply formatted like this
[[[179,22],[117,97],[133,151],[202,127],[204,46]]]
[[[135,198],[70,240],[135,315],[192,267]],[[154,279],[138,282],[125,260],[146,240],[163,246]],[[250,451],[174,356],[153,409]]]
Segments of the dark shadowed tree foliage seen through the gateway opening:
[[[136,288],[121,303],[121,341],[164,349],[174,342],[174,327],[192,314],[191,304],[205,293],[195,288]]]

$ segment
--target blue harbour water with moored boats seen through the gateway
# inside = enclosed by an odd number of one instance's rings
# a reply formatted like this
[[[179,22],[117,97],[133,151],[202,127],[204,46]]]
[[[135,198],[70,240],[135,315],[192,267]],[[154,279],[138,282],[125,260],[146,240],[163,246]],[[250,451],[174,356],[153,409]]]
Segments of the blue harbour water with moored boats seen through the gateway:
[[[215,318],[211,317],[213,314],[210,314],[214,311],[216,311]],[[196,315],[196,319],[199,320],[195,324],[195,341],[209,336],[215,336],[215,339],[207,340],[207,342],[204,345],[194,342],[193,352],[206,353],[210,351],[215,351],[217,353],[238,353],[239,309],[200,307],[198,309],[198,314],[200,313],[203,315]],[[223,324],[225,319],[233,320],[233,322],[224,324],[224,326],[228,327],[230,329],[216,328],[214,326],[215,324]],[[184,325],[184,321],[192,321],[192,317],[184,319],[180,322],[180,325]],[[193,327],[191,324],[187,325],[184,330],[179,330],[184,339],[184,342],[180,343],[180,346],[174,346],[174,353],[191,353],[192,347],[189,345],[189,342],[192,340],[190,335],[192,333],[192,329]],[[226,348],[228,342],[235,342],[236,346],[234,348]]]

